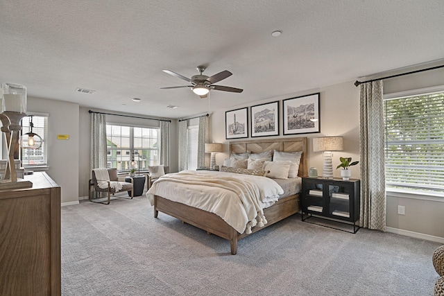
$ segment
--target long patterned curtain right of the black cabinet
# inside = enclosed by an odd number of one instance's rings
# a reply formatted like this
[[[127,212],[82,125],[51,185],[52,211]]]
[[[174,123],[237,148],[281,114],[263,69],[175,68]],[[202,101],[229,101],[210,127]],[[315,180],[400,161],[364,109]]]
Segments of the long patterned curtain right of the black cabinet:
[[[384,231],[386,190],[382,80],[361,84],[359,112],[359,153],[361,154],[359,226]]]

